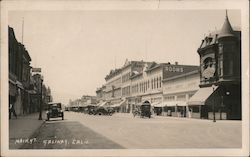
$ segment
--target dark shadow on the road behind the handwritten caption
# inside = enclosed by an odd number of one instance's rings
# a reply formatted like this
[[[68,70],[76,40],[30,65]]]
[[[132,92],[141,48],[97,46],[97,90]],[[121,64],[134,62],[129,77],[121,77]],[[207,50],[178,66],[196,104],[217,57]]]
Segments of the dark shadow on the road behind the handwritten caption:
[[[123,147],[76,121],[46,121],[20,149],[122,149]],[[11,148],[10,148],[11,149]]]

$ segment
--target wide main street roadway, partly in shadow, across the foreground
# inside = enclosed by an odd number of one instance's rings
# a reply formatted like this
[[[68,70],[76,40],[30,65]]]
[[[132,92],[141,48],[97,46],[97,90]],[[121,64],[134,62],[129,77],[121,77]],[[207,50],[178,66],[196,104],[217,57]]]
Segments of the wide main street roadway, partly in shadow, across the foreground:
[[[21,149],[147,149],[240,148],[241,121],[154,116],[151,119],[116,113],[93,116],[65,112],[46,121]],[[45,117],[43,117],[45,118]],[[20,142],[20,141],[17,141]]]

